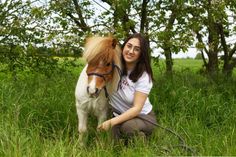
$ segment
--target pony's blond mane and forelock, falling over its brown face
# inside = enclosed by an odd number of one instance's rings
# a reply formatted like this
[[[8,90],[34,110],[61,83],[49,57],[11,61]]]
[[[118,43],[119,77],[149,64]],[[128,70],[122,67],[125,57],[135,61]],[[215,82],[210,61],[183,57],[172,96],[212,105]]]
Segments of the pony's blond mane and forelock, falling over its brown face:
[[[122,70],[121,49],[117,44],[116,39],[114,39],[112,36],[94,36],[88,38],[86,40],[83,58],[85,58],[85,60],[91,64],[99,63],[99,61],[101,60],[105,63],[113,61],[114,64],[117,65],[120,70]],[[108,84],[107,88],[109,93],[117,90],[120,77],[120,71],[115,68],[113,72],[113,79],[111,81],[111,84]]]

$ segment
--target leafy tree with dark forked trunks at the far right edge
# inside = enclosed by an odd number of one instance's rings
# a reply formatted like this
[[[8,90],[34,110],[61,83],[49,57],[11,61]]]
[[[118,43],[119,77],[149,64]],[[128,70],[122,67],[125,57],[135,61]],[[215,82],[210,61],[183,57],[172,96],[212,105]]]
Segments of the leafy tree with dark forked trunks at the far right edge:
[[[196,33],[198,43],[196,47],[201,50],[204,65],[208,74],[214,76],[219,72],[219,53],[223,51],[223,73],[232,74],[236,65],[233,58],[235,44],[227,44],[226,39],[235,34],[234,23],[229,22],[229,13],[235,14],[234,1],[193,1],[189,7],[192,18],[192,29]],[[205,40],[205,41],[204,41]],[[203,53],[207,54],[206,59]]]

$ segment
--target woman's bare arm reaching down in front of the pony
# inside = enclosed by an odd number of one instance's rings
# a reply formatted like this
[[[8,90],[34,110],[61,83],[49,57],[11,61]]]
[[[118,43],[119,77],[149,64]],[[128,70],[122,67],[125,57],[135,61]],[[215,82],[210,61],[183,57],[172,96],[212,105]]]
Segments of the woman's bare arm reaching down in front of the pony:
[[[133,106],[130,109],[128,109],[126,112],[124,112],[123,114],[121,114],[119,116],[113,117],[113,118],[103,122],[97,128],[99,130],[108,130],[111,127],[113,127],[114,125],[123,123],[127,120],[130,120],[130,119],[136,117],[141,112],[147,97],[148,97],[148,94],[136,91],[134,93]]]

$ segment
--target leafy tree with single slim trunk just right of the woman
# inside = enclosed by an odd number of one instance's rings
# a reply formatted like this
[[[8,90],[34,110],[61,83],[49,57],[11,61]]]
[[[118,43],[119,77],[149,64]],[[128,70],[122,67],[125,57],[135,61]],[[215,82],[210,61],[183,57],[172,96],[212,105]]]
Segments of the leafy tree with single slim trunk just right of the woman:
[[[173,53],[186,52],[193,43],[193,35],[188,26],[186,2],[153,2],[150,18],[150,36],[157,47],[163,50],[166,58],[166,72],[173,71]]]

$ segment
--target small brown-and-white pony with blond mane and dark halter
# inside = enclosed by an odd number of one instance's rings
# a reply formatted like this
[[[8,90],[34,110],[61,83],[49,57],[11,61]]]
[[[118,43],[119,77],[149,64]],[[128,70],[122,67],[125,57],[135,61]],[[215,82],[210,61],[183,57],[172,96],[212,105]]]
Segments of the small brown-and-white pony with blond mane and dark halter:
[[[91,37],[86,40],[83,57],[87,65],[80,73],[75,90],[81,144],[89,113],[97,117],[98,125],[107,119],[108,93],[117,90],[120,80],[121,49],[113,37]]]

